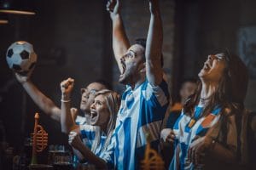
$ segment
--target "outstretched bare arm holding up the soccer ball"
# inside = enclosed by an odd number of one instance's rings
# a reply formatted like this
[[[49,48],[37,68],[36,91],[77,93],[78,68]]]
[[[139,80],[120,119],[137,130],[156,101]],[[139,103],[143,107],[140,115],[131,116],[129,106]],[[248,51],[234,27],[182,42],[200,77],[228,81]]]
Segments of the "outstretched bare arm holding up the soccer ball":
[[[30,80],[31,74],[32,71],[30,71],[26,76],[21,76],[18,73],[15,73],[15,77],[26,90],[26,93],[46,115],[50,116],[57,122],[61,122],[61,109],[32,83]]]

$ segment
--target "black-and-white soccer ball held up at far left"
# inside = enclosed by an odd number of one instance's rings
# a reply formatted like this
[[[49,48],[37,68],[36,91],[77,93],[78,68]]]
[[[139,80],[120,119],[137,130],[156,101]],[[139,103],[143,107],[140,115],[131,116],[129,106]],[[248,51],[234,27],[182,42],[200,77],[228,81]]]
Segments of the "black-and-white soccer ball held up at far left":
[[[19,74],[26,74],[36,64],[37,54],[29,42],[19,41],[11,44],[6,53],[9,68]]]

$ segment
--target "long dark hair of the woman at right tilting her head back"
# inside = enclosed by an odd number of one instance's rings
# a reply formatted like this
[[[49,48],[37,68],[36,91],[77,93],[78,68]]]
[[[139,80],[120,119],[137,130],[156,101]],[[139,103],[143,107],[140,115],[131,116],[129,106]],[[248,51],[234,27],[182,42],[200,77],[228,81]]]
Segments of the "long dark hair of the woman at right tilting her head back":
[[[212,94],[201,116],[207,116],[216,107],[220,107],[223,114],[241,114],[244,108],[243,101],[247,93],[247,67],[241,59],[224,50],[218,54],[224,54],[226,67],[224,75],[218,82],[218,88]],[[195,94],[192,94],[183,106],[183,111],[192,116],[195,105],[199,103],[201,96],[201,82],[198,82],[198,87]],[[228,110],[227,110],[228,108]]]

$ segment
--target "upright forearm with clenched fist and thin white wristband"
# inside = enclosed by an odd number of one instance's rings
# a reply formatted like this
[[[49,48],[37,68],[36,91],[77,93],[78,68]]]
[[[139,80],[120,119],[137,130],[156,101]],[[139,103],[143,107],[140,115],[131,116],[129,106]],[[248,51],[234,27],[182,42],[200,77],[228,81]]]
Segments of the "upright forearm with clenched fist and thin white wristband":
[[[61,82],[61,131],[63,133],[69,133],[76,129],[79,131],[79,126],[73,120],[71,115],[71,92],[73,91],[74,80],[67,78]]]

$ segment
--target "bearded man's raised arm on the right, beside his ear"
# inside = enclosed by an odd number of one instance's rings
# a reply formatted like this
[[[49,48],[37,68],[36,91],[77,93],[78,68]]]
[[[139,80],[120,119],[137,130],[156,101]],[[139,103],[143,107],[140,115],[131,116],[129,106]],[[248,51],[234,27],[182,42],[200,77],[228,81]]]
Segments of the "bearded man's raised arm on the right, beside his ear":
[[[162,81],[161,51],[163,28],[160,17],[159,0],[149,0],[150,23],[146,44],[146,75],[148,82],[159,85]]]

